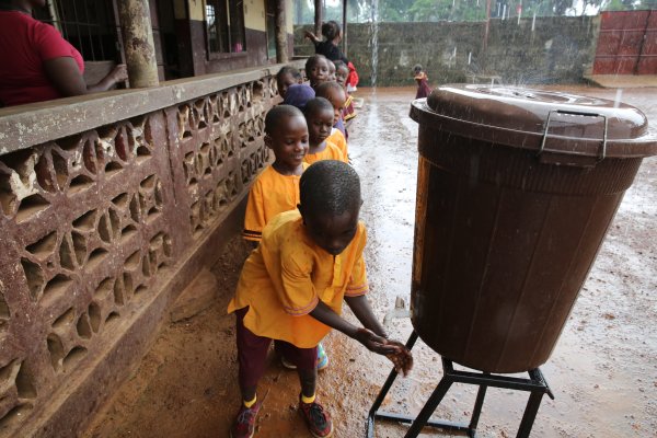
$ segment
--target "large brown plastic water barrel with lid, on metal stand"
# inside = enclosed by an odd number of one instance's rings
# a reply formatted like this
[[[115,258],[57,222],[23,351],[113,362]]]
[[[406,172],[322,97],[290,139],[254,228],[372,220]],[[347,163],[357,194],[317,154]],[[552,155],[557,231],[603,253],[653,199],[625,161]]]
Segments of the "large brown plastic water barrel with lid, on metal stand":
[[[413,326],[470,368],[539,367],[655,134],[630,105],[496,85],[438,88],[411,117]]]

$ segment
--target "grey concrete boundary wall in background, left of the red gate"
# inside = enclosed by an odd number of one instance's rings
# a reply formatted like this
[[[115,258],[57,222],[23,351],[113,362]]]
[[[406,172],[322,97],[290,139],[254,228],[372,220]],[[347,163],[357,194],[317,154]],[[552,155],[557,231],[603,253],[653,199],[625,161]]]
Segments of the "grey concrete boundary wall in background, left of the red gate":
[[[580,82],[591,68],[598,18],[491,20],[484,50],[484,22],[380,23],[378,44],[369,24],[348,25],[347,57],[361,85],[412,85],[412,68],[420,64],[431,85],[465,82],[473,76],[498,76],[504,83]],[[303,30],[295,28],[295,55],[310,55]],[[376,48],[378,47],[378,49]],[[469,64],[470,58],[470,64]],[[475,78],[481,82],[484,79]]]

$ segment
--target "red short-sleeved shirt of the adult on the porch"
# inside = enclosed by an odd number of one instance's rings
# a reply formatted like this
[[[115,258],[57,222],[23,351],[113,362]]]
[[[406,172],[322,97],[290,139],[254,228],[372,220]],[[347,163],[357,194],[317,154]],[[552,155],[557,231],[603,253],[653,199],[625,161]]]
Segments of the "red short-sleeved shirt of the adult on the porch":
[[[44,61],[70,57],[80,73],[80,53],[49,24],[18,11],[0,11],[0,102],[4,106],[49,101],[61,95],[44,70]]]

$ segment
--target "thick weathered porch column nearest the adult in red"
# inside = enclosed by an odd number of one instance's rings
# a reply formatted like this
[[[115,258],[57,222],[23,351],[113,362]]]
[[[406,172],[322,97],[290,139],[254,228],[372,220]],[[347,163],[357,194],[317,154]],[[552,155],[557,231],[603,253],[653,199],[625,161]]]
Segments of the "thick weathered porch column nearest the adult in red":
[[[117,4],[130,88],[159,85],[148,0],[118,0]]]

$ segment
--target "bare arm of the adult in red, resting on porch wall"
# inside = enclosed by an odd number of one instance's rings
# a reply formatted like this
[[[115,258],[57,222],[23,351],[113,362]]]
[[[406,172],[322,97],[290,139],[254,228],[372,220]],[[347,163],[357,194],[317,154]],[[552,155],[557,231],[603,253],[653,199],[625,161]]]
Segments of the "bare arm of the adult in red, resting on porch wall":
[[[99,83],[88,87],[78,64],[68,56],[45,60],[44,70],[53,85],[65,97],[107,91],[127,79],[126,66],[118,65]]]

